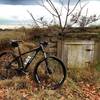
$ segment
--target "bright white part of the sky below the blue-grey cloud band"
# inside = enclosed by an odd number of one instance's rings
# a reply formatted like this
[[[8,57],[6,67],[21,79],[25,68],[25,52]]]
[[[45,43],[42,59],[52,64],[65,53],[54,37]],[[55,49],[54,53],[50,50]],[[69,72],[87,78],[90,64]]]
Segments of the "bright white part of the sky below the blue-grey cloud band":
[[[60,5],[56,5],[59,8]],[[100,1],[90,1],[84,8],[83,13],[86,12],[87,8],[88,15],[100,15]],[[44,16],[47,20],[50,20],[51,15],[39,5],[0,5],[0,20],[16,20],[19,23],[24,23],[26,20],[31,20],[27,10],[29,10],[35,18]],[[78,10],[78,8],[76,10]]]

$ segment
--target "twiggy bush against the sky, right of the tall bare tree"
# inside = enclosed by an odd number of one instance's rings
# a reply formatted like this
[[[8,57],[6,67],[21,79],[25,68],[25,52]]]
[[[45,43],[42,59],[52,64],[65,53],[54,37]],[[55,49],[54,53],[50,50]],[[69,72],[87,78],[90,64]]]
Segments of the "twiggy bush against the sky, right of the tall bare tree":
[[[85,5],[83,6],[85,7]],[[96,22],[100,19],[100,15],[90,15],[88,16],[88,8],[86,9],[86,14],[82,15],[82,9],[83,7],[80,7],[80,12],[76,12],[74,14],[72,14],[72,17],[70,19],[71,22],[73,22],[73,24],[77,24],[79,27],[84,28],[87,25]]]

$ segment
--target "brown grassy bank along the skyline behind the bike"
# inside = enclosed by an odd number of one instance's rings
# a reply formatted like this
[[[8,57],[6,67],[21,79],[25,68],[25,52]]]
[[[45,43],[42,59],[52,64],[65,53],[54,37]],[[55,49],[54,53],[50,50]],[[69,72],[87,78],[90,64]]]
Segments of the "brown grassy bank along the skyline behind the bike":
[[[52,31],[51,31],[52,30]],[[81,33],[81,29],[80,28],[69,28],[65,30],[66,33]],[[32,29],[13,29],[13,30],[0,30],[0,40],[3,39],[14,39],[14,38],[21,38],[24,37],[25,35],[31,35],[34,36],[36,35],[37,38],[40,37],[41,33],[45,33],[48,34],[50,33],[59,33],[59,27],[55,27],[55,26],[50,26],[47,28],[32,28]],[[96,28],[96,27],[87,27],[85,28],[85,32],[89,32],[89,33],[100,33],[100,27]],[[84,31],[83,31],[84,33]],[[35,38],[36,39],[36,38]]]

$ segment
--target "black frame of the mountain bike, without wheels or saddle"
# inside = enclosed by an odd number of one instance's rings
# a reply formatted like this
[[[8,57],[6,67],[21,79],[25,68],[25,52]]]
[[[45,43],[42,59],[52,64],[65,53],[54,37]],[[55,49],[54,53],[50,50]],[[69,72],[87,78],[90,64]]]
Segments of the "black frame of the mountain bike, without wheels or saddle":
[[[13,61],[11,61],[11,63],[13,63],[16,59],[20,60],[20,61],[19,61],[19,68],[21,68],[21,69],[24,70],[24,71],[28,68],[28,66],[31,64],[31,62],[32,62],[33,59],[36,57],[36,55],[38,54],[39,51],[41,51],[41,52],[43,53],[44,58],[47,58],[47,54],[46,54],[46,52],[44,51],[44,47],[43,47],[42,44],[40,44],[39,47],[34,48],[34,49],[32,49],[32,50],[30,50],[30,51],[27,51],[27,52],[25,52],[25,53],[21,53],[19,47],[18,47],[18,51],[19,51],[19,55],[17,55],[17,56],[15,57],[15,59],[14,59]],[[31,53],[31,52],[34,52],[34,53],[32,54],[32,56],[31,56],[31,58],[29,59],[29,61],[27,62],[27,64],[24,65],[24,62],[23,62],[23,60],[22,60],[22,56],[25,55],[25,54]],[[27,58],[27,57],[26,57],[26,58]],[[10,63],[10,64],[11,64],[11,63]],[[10,65],[10,64],[9,64],[9,65]]]

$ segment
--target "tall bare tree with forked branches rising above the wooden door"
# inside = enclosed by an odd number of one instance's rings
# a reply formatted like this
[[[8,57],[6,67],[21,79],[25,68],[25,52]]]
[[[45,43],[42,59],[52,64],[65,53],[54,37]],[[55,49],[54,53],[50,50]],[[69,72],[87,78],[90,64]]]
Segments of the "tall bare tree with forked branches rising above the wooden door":
[[[74,5],[74,7],[72,9],[70,9],[71,0],[68,0],[66,5],[64,4],[63,0],[59,0],[59,2],[61,4],[61,8],[60,8],[60,10],[58,10],[52,0],[41,0],[41,1],[42,2],[40,5],[43,6],[53,16],[53,18],[58,19],[58,25],[60,27],[61,33],[63,33],[64,30],[66,29],[66,27],[68,26],[69,16],[74,12],[74,10],[78,6],[78,4],[81,2],[81,0],[78,0],[76,2],[76,4]],[[46,3],[49,5],[49,7],[46,5]],[[62,11],[63,10],[66,11],[64,22],[62,22],[62,16],[63,16]]]

